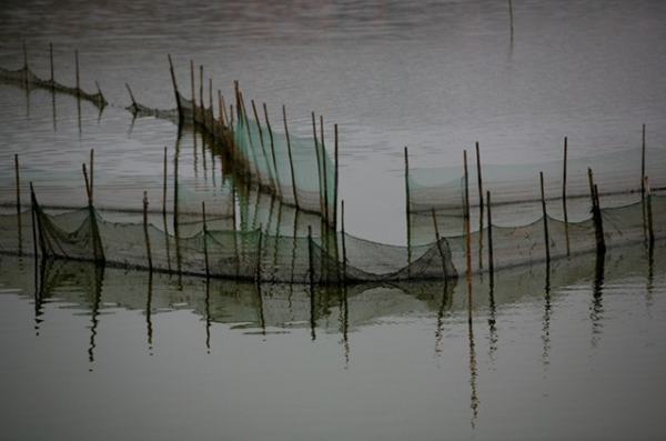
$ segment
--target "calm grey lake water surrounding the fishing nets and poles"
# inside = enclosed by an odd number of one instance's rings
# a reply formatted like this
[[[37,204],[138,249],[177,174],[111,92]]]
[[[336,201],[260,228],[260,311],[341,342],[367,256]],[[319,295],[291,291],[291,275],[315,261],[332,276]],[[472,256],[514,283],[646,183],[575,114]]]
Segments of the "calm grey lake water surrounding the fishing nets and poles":
[[[404,146],[417,168],[460,166],[475,141],[487,163],[558,160],[564,136],[574,160],[638,161],[642,123],[648,151],[666,144],[666,2],[513,6],[512,37],[503,0],[4,1],[0,66],[19,68],[26,40],[48,78],[53,42],[56,78],[73,84],[78,49],[82,87],[99,81],[111,106],[0,84],[0,178],[19,153],[78,179],[94,148],[100,179],[159,182],[178,130],[132,121],[124,83],[173,108],[167,53],[184,90],[193,59],[225,97],[240,80],[272,114],[286,104],[295,133],[311,111],[337,123],[347,231],[381,242],[406,238]],[[201,143],[181,149],[183,179],[215,187]],[[659,438],[663,254],[618,251],[548,281],[516,270],[494,301],[475,280],[471,325],[464,285],[206,291],[63,264],[36,289],[32,260],[1,257],[0,439]]]

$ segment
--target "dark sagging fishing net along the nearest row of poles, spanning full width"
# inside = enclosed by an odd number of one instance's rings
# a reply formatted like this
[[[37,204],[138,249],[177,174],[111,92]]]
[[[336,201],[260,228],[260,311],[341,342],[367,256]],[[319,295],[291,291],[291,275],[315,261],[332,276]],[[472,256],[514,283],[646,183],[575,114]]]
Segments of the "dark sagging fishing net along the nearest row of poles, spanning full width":
[[[466,241],[462,235],[417,247],[382,244],[342,233],[309,238],[259,229],[211,230],[202,224],[201,230],[191,229],[185,235],[153,224],[112,222],[92,207],[47,213],[36,202],[33,211],[39,253],[49,258],[143,269],[152,264],[153,270],[170,273],[278,283],[441,280],[465,271]],[[602,210],[606,245],[645,242],[646,211],[655,239],[664,239],[666,197],[652,196],[645,202]],[[569,222],[566,231],[562,221],[548,217],[547,222],[551,259],[566,255],[567,234],[572,255],[594,255],[596,227],[592,220]],[[515,228],[493,225],[492,232],[496,269],[546,260],[543,219]],[[487,244],[478,247],[481,234],[487,237],[487,228],[472,234],[472,252],[485,259]],[[0,216],[0,252],[33,253],[30,211]],[[481,271],[484,269],[474,264],[473,272]]]

